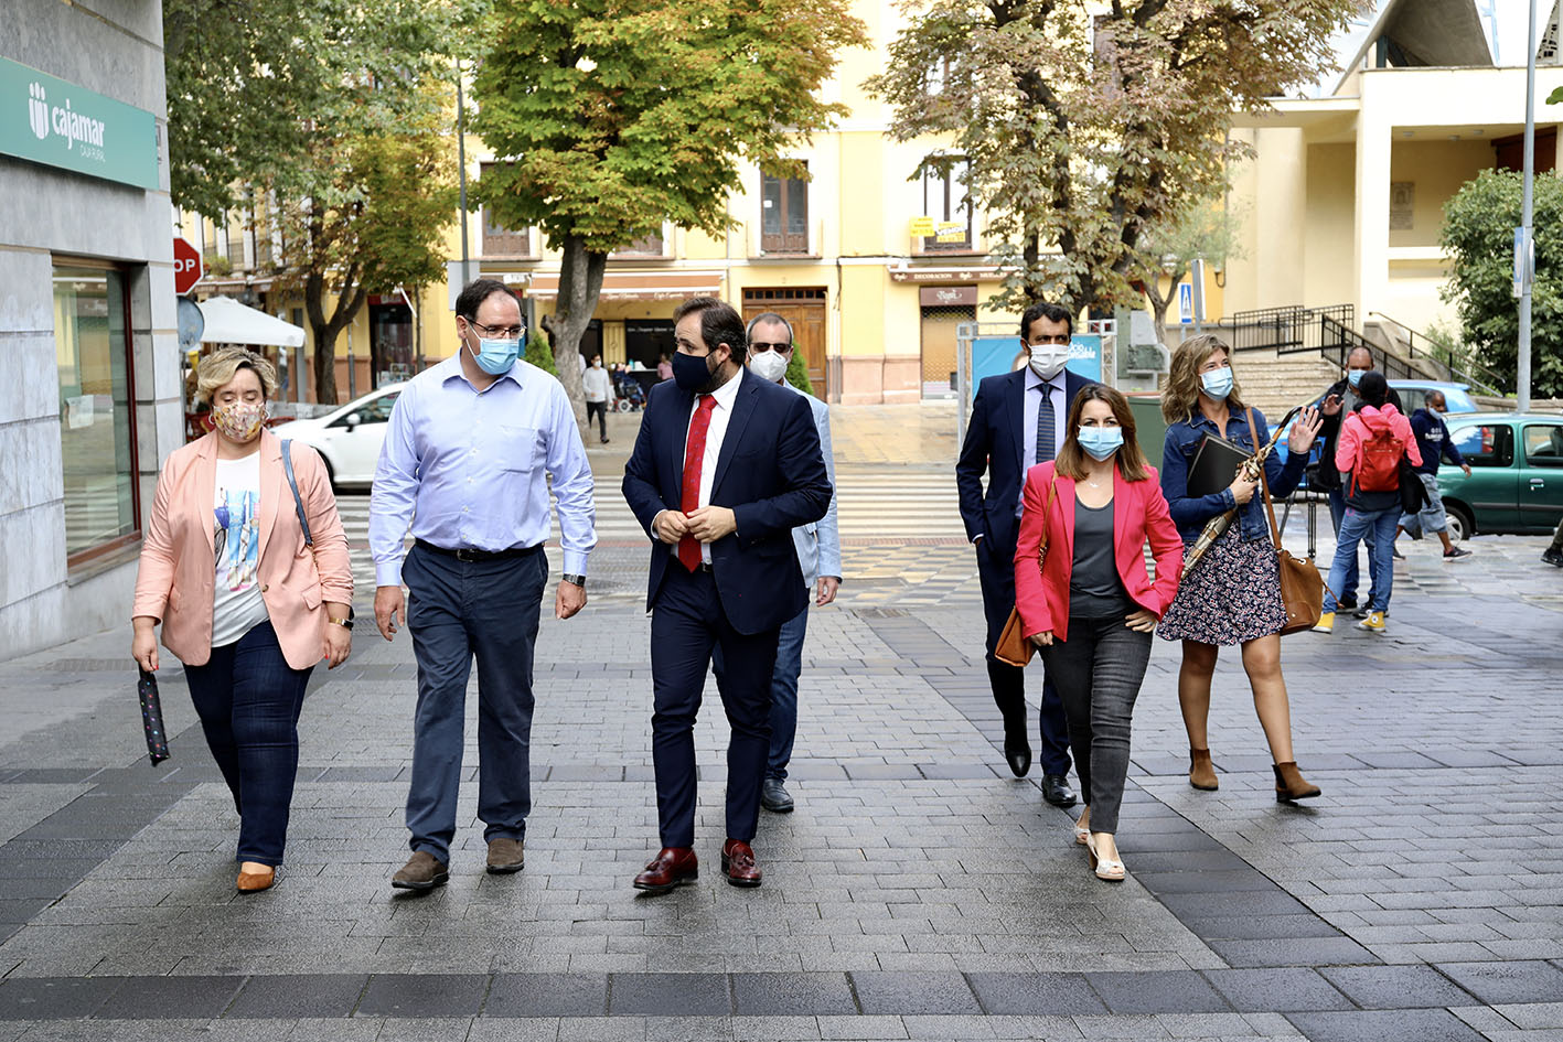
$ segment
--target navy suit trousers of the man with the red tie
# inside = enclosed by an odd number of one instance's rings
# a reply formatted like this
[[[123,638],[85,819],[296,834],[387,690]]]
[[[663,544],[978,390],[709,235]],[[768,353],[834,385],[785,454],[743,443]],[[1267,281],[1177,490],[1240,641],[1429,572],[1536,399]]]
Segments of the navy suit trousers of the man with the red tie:
[[[710,572],[667,566],[652,608],[652,762],[663,847],[694,847],[694,720],[706,667],[721,648],[727,744],[727,837],[746,844],[760,820],[760,783],[771,751],[771,675],[780,628],[733,630]]]

